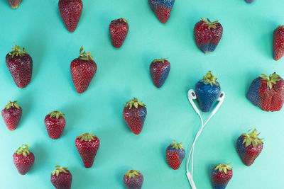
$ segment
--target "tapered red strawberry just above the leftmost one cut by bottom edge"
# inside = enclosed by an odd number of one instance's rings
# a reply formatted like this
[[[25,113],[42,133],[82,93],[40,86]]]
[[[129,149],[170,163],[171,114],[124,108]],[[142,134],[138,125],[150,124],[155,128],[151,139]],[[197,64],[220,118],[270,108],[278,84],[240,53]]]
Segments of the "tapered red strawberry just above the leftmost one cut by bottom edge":
[[[99,139],[94,134],[80,134],[75,140],[75,146],[82,158],[85,168],[90,168],[99,149]]]

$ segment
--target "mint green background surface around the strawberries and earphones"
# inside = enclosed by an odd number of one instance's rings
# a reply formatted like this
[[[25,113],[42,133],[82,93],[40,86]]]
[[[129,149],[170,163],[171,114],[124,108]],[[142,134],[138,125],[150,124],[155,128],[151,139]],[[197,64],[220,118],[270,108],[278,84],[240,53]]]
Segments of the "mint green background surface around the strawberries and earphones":
[[[246,100],[251,81],[263,71],[284,76],[284,59],[272,58],[273,30],[283,24],[281,0],[246,4],[244,0],[176,1],[171,17],[160,23],[146,0],[84,0],[75,33],[65,28],[57,0],[23,0],[13,10],[0,1],[0,106],[18,100],[23,115],[9,132],[0,119],[0,188],[53,188],[50,173],[68,166],[74,189],[124,188],[124,173],[137,169],[145,189],[186,189],[185,160],[178,171],[165,162],[165,149],[173,139],[187,152],[200,128],[200,120],[187,101],[187,90],[208,70],[226,92],[224,104],[204,128],[195,149],[194,179],[198,189],[212,188],[215,164],[230,163],[234,176],[227,188],[283,188],[283,110],[266,113]],[[109,23],[129,19],[129,35],[116,50],[109,38]],[[224,35],[215,52],[203,55],[195,45],[194,25],[201,17],[220,21]],[[33,78],[24,89],[16,87],[5,64],[13,42],[33,57]],[[78,94],[70,76],[70,62],[81,45],[91,51],[98,70],[87,91]],[[165,85],[155,88],[149,65],[168,57],[171,70]],[[148,115],[140,135],[123,120],[123,105],[137,97]],[[43,119],[53,110],[66,114],[67,125],[58,140],[48,137]],[[209,114],[202,113],[204,118]],[[242,164],[236,138],[256,127],[264,137],[261,155],[251,167]],[[84,168],[75,137],[97,134],[101,146],[92,168]],[[26,176],[13,165],[12,155],[30,144],[35,164]]]

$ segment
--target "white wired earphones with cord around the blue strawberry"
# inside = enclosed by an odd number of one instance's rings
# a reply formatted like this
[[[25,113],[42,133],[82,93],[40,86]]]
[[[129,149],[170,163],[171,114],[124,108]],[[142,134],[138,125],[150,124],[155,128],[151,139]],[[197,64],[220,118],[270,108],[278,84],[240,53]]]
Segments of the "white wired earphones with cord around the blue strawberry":
[[[186,175],[187,175],[187,178],[188,178],[188,181],[190,181],[190,185],[191,185],[191,188],[192,189],[196,189],[196,186],[195,186],[195,182],[193,181],[193,154],[194,154],[194,151],[195,151],[195,143],[198,139],[198,137],[200,136],[203,128],[205,125],[207,125],[207,122],[209,122],[209,120],[213,117],[213,115],[215,113],[217,113],[217,110],[220,108],[220,106],[222,105],[223,101],[224,101],[224,98],[225,98],[225,93],[224,92],[221,92],[219,94],[219,98],[217,99],[217,101],[219,101],[219,103],[216,105],[216,107],[214,108],[214,110],[212,111],[211,115],[209,116],[209,118],[207,119],[207,121],[204,123],[203,122],[203,119],[202,119],[202,116],[200,114],[200,110],[198,110],[197,106],[195,105],[195,103],[193,102],[193,100],[195,100],[197,98],[196,94],[195,94],[195,91],[190,89],[190,91],[187,92],[187,98],[188,98],[188,101],[190,101],[190,104],[192,105],[192,108],[195,109],[195,112],[197,113],[197,115],[200,116],[200,120],[201,120],[201,127],[200,127],[200,130],[197,132],[197,134],[195,135],[195,140],[194,142],[192,143],[192,147],[190,149],[190,155],[188,156],[188,159],[187,159],[187,167],[186,167]],[[188,170],[188,164],[190,163],[190,156],[192,157],[192,161],[191,161],[191,173],[190,171]]]

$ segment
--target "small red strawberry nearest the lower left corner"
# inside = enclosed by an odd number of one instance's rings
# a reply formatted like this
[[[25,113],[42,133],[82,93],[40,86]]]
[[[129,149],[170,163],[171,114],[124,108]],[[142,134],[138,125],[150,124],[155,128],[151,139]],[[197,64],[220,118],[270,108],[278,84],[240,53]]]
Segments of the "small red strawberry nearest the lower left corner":
[[[31,151],[28,151],[28,154],[26,153],[25,155],[18,154],[17,151],[13,154],[13,164],[15,164],[18,173],[21,175],[26,175],[34,162],[35,156]]]

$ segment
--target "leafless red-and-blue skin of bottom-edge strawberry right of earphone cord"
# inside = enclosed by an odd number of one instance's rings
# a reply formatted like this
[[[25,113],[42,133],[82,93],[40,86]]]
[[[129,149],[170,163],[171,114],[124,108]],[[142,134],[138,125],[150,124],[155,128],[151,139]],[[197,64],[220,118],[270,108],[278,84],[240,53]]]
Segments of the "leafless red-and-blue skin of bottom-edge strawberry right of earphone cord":
[[[213,188],[224,189],[233,177],[233,171],[227,170],[225,173],[224,171],[219,171],[219,169],[216,169],[216,167],[217,166],[215,166],[211,171]]]

